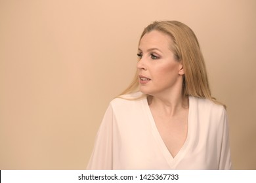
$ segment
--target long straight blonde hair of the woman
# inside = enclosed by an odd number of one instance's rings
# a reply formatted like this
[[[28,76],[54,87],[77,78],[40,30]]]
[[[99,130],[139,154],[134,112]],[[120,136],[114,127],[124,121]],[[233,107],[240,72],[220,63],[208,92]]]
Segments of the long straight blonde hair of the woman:
[[[173,41],[170,45],[171,50],[175,59],[182,63],[185,73],[183,75],[182,84],[183,95],[206,98],[217,104],[223,105],[211,96],[205,62],[198,39],[192,29],[178,21],[153,22],[144,29],[140,36],[140,40],[150,31],[160,31],[171,37]],[[139,91],[138,78],[139,74],[137,71],[133,81],[121,95]]]

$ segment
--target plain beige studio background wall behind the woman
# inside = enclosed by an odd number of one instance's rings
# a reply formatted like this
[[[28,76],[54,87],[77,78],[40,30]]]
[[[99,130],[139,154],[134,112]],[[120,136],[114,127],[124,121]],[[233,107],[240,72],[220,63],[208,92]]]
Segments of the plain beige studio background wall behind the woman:
[[[0,169],[85,169],[154,20],[194,30],[228,106],[234,169],[256,169],[255,17],[254,0],[0,0]]]

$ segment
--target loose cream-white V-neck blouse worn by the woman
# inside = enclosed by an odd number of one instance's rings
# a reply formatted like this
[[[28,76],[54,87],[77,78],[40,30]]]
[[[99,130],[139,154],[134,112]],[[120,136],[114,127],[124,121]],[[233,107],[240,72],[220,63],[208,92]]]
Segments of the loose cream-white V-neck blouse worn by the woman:
[[[208,99],[190,96],[188,134],[173,158],[146,97],[116,98],[98,129],[87,169],[231,169],[226,110]]]

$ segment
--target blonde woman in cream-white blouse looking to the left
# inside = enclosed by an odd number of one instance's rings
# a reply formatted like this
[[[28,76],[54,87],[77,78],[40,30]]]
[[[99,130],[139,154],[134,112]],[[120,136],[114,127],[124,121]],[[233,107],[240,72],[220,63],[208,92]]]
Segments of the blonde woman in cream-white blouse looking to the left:
[[[226,110],[211,97],[193,31],[154,22],[138,56],[133,82],[106,110],[87,169],[230,169]]]

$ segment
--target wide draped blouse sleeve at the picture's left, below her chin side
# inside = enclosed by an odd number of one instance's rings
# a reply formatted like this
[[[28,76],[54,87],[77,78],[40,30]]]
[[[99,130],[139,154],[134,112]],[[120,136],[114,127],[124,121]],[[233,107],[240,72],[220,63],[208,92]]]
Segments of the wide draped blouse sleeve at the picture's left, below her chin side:
[[[87,169],[112,169],[113,159],[113,110],[111,105],[107,108],[102,124],[98,129],[93,153]]]

